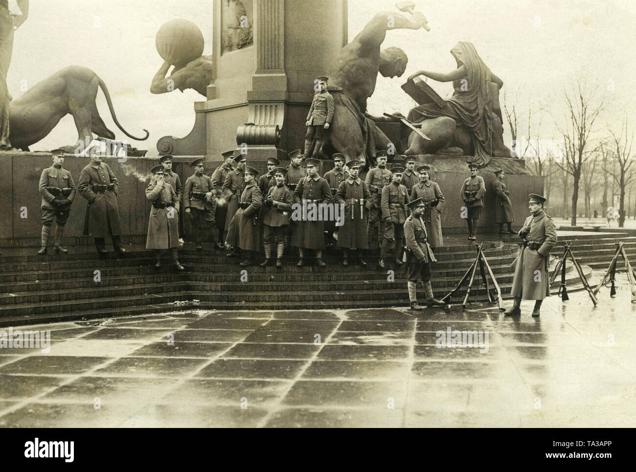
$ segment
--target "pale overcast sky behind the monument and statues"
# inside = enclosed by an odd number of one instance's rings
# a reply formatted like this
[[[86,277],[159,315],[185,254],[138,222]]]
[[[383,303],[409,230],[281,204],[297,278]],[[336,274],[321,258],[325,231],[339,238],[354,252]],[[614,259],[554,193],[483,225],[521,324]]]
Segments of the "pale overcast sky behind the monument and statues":
[[[92,69],[105,82],[120,123],[131,134],[150,132],[135,147],[156,153],[164,135],[183,137],[194,123],[193,102],[204,99],[193,90],[153,95],[149,85],[162,64],[155,34],[172,18],[186,18],[200,27],[204,54],[212,48],[210,0],[59,0],[31,2],[29,18],[15,34],[8,88],[14,98],[60,69],[76,65]],[[350,0],[349,38],[352,39],[378,11],[397,11],[394,1]],[[563,114],[562,91],[570,80],[586,74],[597,80],[611,99],[601,118],[616,125],[621,115],[636,109],[632,82],[636,77],[636,1],[633,0],[415,0],[429,20],[424,30],[389,31],[383,47],[398,46],[409,61],[402,78],[378,76],[368,102],[374,114],[401,111],[413,101],[400,86],[420,69],[448,72],[456,67],[450,55],[458,41],[470,41],[488,67],[504,81],[508,95],[518,95],[518,110],[529,102],[542,104],[551,115]],[[17,11],[15,0],[10,7]],[[408,14],[406,14],[408,15]],[[328,34],[328,32],[325,32]],[[429,84],[446,97],[450,83]],[[609,88],[611,88],[609,87]],[[100,115],[118,137],[125,137],[109,116],[104,95],[97,94]],[[558,138],[544,117],[543,137]],[[34,150],[73,144],[73,118],[66,116]],[[299,147],[300,147],[299,143]]]

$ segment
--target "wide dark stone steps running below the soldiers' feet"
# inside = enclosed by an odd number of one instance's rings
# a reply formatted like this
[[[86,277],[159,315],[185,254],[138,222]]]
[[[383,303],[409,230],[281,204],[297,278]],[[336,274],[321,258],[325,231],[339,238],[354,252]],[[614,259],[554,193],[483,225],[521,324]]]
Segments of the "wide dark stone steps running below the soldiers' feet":
[[[635,251],[636,251],[636,242]],[[326,251],[327,267],[297,267],[296,252],[285,266],[240,267],[225,251],[181,249],[186,267],[177,273],[167,254],[163,267],[154,267],[151,251],[128,245],[128,253],[99,258],[90,246],[76,246],[69,254],[0,256],[0,326],[18,323],[79,321],[183,309],[352,309],[408,306],[406,277],[401,267],[375,267],[377,255],[365,257],[366,267],[340,265],[339,251]],[[484,253],[504,296],[512,284],[510,264],[517,247],[502,241],[484,243]],[[80,251],[80,252],[75,252]],[[15,251],[14,251],[15,252]],[[375,252],[375,251],[374,251]],[[20,254],[22,253],[22,254]],[[438,298],[459,282],[476,257],[474,244],[436,249],[432,286]],[[609,261],[609,258],[608,258]],[[95,272],[98,271],[99,273]],[[394,272],[389,272],[389,271]],[[591,272],[589,268],[586,271]],[[99,281],[97,275],[99,274]],[[392,277],[391,277],[392,275]],[[245,281],[245,277],[247,280]],[[479,272],[471,302],[487,300]],[[575,277],[568,267],[568,278]],[[422,290],[419,291],[420,296]],[[453,297],[460,303],[462,288]]]

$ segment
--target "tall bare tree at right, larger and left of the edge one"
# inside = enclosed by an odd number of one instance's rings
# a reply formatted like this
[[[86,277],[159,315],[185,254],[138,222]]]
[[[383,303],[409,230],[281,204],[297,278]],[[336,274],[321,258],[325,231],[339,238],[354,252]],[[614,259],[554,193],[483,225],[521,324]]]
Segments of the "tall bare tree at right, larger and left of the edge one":
[[[563,136],[565,156],[563,163],[556,163],[572,176],[572,226],[576,226],[576,211],[579,200],[581,167],[595,151],[591,146],[591,132],[598,115],[605,108],[605,97],[600,94],[598,84],[588,86],[584,78],[574,83],[572,90],[563,92],[567,112],[565,125],[555,120]]]

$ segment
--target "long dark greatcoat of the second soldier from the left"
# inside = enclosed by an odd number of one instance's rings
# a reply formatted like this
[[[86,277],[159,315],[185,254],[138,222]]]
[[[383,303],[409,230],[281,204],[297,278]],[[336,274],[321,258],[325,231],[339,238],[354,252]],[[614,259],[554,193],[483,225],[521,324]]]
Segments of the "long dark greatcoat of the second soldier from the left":
[[[113,190],[95,193],[92,185],[114,184]],[[110,167],[104,162],[99,167],[88,164],[79,173],[79,195],[88,200],[84,218],[84,235],[94,238],[105,238],[111,233],[121,235],[119,209],[117,207],[117,190],[119,183]]]

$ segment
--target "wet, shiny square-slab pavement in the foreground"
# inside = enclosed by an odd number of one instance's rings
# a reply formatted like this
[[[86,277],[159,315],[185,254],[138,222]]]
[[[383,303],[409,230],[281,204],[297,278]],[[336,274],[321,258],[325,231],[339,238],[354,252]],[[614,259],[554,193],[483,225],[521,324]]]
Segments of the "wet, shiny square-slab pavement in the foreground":
[[[0,349],[0,426],[633,427],[636,303],[598,297],[14,326],[50,352]]]

